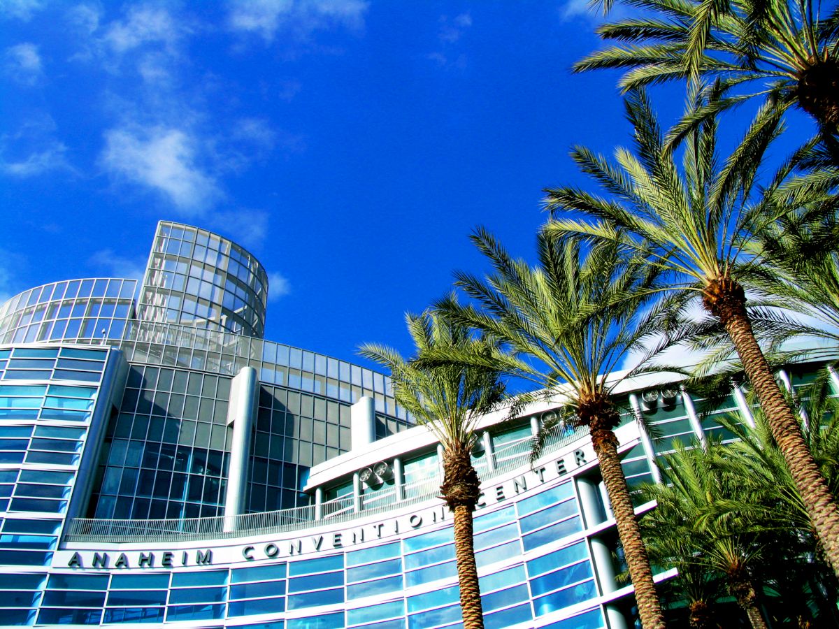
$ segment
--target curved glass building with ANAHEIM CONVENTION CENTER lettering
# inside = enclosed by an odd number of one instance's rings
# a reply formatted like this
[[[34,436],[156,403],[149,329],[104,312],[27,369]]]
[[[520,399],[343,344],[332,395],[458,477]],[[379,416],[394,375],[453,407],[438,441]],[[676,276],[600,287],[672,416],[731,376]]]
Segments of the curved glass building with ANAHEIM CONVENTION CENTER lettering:
[[[267,295],[242,247],[161,222],[139,288],[69,280],[0,306],[0,624],[460,626],[440,446],[383,374],[263,340]],[[630,484],[656,480],[675,439],[720,430],[678,383],[619,395]],[[635,621],[586,432],[530,464],[561,403],[482,418],[490,629]],[[753,421],[740,389],[723,406]]]

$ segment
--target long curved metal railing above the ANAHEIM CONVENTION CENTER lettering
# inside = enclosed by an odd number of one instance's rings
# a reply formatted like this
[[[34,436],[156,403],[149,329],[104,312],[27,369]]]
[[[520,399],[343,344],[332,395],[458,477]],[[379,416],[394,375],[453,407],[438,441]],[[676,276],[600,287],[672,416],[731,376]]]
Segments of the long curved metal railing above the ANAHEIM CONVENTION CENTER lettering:
[[[558,450],[565,444],[581,439],[586,429],[576,429],[545,448],[545,454]],[[526,465],[529,451],[510,458],[494,470],[485,470],[482,481],[502,476]],[[65,542],[108,543],[158,543],[184,542],[202,539],[239,538],[244,535],[282,533],[310,527],[318,523],[350,522],[358,517],[368,517],[391,512],[393,507],[406,507],[440,496],[440,482],[434,478],[411,487],[413,494],[401,501],[386,502],[375,507],[354,511],[353,496],[341,496],[320,505],[294,507],[263,513],[246,513],[238,516],[190,517],[169,520],[105,520],[75,518],[67,522],[63,536]],[[319,516],[319,517],[316,517]]]

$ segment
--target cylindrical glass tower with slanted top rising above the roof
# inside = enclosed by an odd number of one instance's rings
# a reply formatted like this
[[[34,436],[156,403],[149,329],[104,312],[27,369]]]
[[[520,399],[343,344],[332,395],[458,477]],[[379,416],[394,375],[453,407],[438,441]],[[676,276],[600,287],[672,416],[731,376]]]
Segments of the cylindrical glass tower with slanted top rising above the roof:
[[[251,253],[211,231],[159,222],[140,319],[262,338],[267,301],[268,275]]]

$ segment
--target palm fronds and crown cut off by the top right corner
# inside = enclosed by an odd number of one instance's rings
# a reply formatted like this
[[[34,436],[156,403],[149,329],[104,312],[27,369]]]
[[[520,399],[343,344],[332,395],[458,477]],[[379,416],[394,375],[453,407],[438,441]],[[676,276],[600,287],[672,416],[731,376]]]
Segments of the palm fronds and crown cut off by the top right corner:
[[[764,97],[797,106],[818,123],[836,156],[839,124],[839,10],[813,0],[628,0],[641,17],[597,29],[619,43],[591,53],[576,71],[627,70],[624,91],[685,77],[713,77],[736,94],[718,110]],[[708,113],[707,111],[704,113]]]

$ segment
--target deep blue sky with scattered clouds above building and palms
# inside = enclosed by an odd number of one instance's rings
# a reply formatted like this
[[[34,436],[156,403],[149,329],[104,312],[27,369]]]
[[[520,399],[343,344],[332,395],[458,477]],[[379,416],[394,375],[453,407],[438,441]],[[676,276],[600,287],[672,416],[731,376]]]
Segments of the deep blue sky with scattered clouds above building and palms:
[[[407,353],[474,226],[529,256],[568,148],[628,142],[584,6],[0,0],[0,295],[138,277],[183,221],[267,268],[269,339]]]

